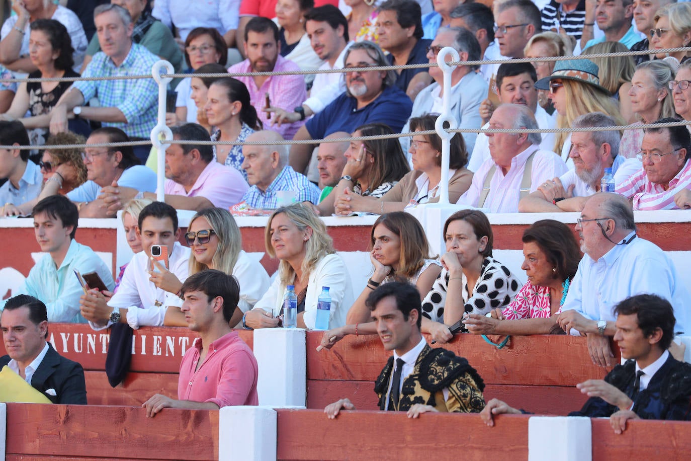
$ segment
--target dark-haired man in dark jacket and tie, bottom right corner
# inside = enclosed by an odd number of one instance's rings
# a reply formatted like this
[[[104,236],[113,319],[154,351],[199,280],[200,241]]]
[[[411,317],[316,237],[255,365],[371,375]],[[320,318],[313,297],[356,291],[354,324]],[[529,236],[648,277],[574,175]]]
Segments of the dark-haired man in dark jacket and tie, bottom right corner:
[[[614,341],[627,361],[605,379],[577,384],[590,398],[569,416],[609,417],[618,434],[628,420],[691,420],[691,364],[668,350],[674,338],[672,305],[654,294],[637,294],[618,303],[614,315]],[[493,416],[502,413],[525,412],[491,399],[480,416],[493,426]]]

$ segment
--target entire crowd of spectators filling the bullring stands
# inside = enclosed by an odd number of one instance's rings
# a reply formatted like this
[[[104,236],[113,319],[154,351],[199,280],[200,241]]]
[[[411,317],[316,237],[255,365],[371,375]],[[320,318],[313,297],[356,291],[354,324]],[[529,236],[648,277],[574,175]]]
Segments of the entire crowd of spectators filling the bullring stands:
[[[331,0],[210,0],[205,8],[155,0],[153,10],[147,0],[100,3],[84,21],[82,10],[18,0],[0,30],[2,79],[85,77],[0,84],[0,144],[35,147],[0,151],[1,214],[31,215],[46,253],[19,289],[25,297],[6,304],[3,335],[14,337],[11,326],[23,321],[25,308],[37,335],[47,322],[88,321],[96,330],[189,326],[201,341],[182,359],[179,399],[154,395],[144,402],[147,415],[169,406],[256,405],[256,360],[231,329],[282,326],[289,285],[297,326],[314,329],[321,287],[328,286],[322,348],[345,335],[378,333],[394,351],[375,386],[382,410],[417,417],[484,407],[477,372],[461,357],[439,358],[422,332],[440,343],[455,332],[581,335],[592,361],[609,367],[612,337],[625,343],[638,328],[652,352],[629,347],[622,355],[647,370],[647,381],[638,375],[634,391],[633,365],[615,368],[605,381],[618,393],[589,400],[579,414],[618,422],[688,419],[688,412],[636,400],[647,387],[649,400],[666,395],[650,382],[659,370],[691,376],[671,358],[678,351],[669,333],[691,328],[691,297],[668,256],[637,236],[633,211],[691,208],[691,135],[686,126],[623,134],[618,126],[691,120],[691,59],[685,52],[654,54],[691,43],[690,4],[552,0],[538,7],[506,0],[491,9],[442,0],[430,10],[429,2],[415,0],[348,0],[344,14]],[[90,43],[88,19],[95,27]],[[449,109],[460,128],[517,130],[455,133],[448,171],[442,139],[429,134],[448,96],[444,73],[435,66],[367,69],[433,64],[444,47],[461,62],[503,61],[457,66],[450,74]],[[650,57],[511,61],[649,48]],[[173,140],[164,152],[104,147],[149,140],[157,84],[122,77],[151,73],[159,58],[189,73],[169,88]],[[316,69],[346,71],[310,74]],[[225,72],[235,77],[199,76]],[[551,128],[574,131],[522,131]],[[370,136],[388,138],[343,141]],[[83,150],[61,148],[82,143]],[[163,202],[153,201],[156,174],[146,166],[159,155]],[[614,191],[604,193],[608,170]],[[439,229],[446,242],[439,256],[406,211],[438,202],[442,186],[461,210]],[[135,254],[114,280],[75,232],[78,218],[121,210]],[[196,211],[187,246],[178,242],[177,210]],[[566,225],[538,220],[522,237],[527,283],[521,285],[522,277],[493,256],[486,214],[560,211],[580,213],[580,248]],[[279,261],[273,281],[243,251],[233,216],[247,214],[269,216],[266,252]],[[370,234],[372,276],[359,295],[319,218],[352,214],[379,215]],[[154,248],[166,249],[165,264],[153,260]],[[74,272],[95,272],[105,290],[80,285]],[[656,316],[652,326],[643,324],[645,303]],[[32,359],[48,357],[48,346],[39,344]],[[230,357],[232,372],[224,366]],[[12,357],[10,368],[33,384],[27,358]],[[209,382],[192,386],[198,361],[208,364]],[[415,382],[418,361],[455,364],[453,380],[450,374],[441,387]],[[70,380],[84,386],[83,377]],[[436,403],[399,395],[404,386]],[[81,391],[67,394],[84,403]],[[343,408],[354,407],[342,399],[325,411],[336,417]],[[483,418],[493,424],[492,415],[515,412],[493,400]]]

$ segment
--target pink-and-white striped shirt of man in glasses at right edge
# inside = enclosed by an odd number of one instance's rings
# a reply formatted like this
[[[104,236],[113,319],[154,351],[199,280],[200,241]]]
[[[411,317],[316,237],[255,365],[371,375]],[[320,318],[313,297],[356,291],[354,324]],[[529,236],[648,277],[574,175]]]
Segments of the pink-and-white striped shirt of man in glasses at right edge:
[[[632,201],[634,209],[679,209],[674,203],[674,195],[681,189],[691,188],[691,160],[686,160],[683,168],[670,180],[665,188],[648,180],[645,168],[632,175],[616,187],[616,192]]]

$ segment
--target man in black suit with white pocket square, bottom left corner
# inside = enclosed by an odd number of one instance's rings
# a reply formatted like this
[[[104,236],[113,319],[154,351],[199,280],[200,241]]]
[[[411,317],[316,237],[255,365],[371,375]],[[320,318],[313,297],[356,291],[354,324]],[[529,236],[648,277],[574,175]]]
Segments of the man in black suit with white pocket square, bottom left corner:
[[[0,319],[8,352],[0,357],[0,368],[9,366],[54,404],[86,405],[82,366],[61,357],[46,341],[46,305],[35,297],[19,294],[8,299]]]

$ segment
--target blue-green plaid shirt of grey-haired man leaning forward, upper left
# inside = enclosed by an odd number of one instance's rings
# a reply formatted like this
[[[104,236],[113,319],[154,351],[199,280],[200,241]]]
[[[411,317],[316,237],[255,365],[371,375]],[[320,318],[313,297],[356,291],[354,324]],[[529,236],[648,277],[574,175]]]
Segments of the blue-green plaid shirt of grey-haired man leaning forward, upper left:
[[[84,69],[82,77],[114,77],[120,75],[151,75],[151,66],[158,57],[144,46],[132,44],[127,57],[115,66],[110,57],[100,51]],[[115,126],[130,137],[149,138],[158,116],[158,85],[153,78],[130,80],[90,80],[75,82],[84,102],[98,97],[102,107],[117,107],[127,119],[123,122],[103,122]]]

